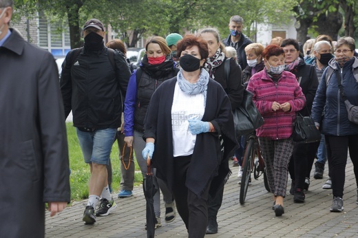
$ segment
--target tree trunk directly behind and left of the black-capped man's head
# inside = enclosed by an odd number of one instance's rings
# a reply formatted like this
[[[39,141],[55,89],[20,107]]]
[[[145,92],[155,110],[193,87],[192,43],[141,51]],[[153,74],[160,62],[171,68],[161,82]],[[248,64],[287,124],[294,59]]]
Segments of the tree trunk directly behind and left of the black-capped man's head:
[[[70,27],[71,49],[83,46],[81,41],[81,28],[79,25],[79,10],[83,6],[82,1],[76,1],[71,6],[66,6],[68,25]]]

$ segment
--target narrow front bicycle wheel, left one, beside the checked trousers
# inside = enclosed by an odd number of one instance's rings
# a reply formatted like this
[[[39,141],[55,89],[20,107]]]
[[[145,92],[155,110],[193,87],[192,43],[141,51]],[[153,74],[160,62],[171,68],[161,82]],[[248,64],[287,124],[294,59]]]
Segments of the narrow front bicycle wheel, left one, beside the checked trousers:
[[[253,156],[255,155],[255,139],[250,138],[246,145],[244,160],[242,161],[244,169],[242,170],[241,186],[240,186],[240,204],[244,204],[247,187],[249,186],[249,180],[251,175],[251,166],[253,165]]]

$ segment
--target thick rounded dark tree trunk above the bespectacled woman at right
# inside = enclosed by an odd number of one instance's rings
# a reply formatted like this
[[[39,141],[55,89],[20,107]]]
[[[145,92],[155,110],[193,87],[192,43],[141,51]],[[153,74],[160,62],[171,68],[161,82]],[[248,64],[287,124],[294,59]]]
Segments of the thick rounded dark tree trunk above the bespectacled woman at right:
[[[339,4],[335,6],[336,9],[339,8]],[[327,12],[326,14],[320,14],[317,19],[317,32],[319,34],[326,34],[330,36],[333,41],[338,38],[338,31],[341,29],[343,23],[342,14],[338,12]]]

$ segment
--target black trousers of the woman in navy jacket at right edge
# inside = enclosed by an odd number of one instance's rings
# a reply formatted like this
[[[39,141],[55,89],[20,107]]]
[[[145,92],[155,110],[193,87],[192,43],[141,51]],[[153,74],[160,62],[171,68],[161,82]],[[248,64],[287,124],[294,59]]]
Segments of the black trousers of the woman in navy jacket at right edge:
[[[358,184],[358,135],[325,136],[329,173],[332,178],[333,197],[343,198],[348,149]]]

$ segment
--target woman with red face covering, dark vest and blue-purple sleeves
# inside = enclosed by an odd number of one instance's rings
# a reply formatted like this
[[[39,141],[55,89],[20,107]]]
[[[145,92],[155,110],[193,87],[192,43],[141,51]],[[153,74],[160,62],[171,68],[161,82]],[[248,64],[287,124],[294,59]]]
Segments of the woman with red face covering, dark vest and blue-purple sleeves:
[[[179,69],[175,67],[172,58],[169,57],[171,50],[167,42],[160,36],[154,36],[145,45],[145,56],[140,67],[136,69],[131,77],[125,96],[125,142],[127,147],[133,147],[136,159],[142,171],[143,178],[147,173],[147,162],[138,155],[145,148],[143,140],[145,114],[149,106],[149,100],[154,91],[165,80],[173,78],[178,74]],[[155,172],[154,172],[155,174]],[[165,201],[165,221],[173,221],[176,217],[173,195],[171,195],[166,184],[162,180],[157,180],[154,176],[154,186],[163,193]],[[159,189],[154,195],[154,213],[157,223],[155,228],[162,226],[160,222],[160,194]]]

